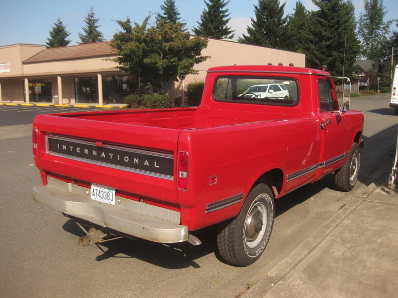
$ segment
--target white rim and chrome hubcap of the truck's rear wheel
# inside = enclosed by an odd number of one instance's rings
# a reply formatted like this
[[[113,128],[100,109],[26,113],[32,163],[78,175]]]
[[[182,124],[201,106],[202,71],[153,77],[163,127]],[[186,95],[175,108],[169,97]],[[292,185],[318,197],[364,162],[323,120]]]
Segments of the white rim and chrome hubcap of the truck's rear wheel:
[[[267,223],[267,207],[263,202],[254,204],[245,222],[245,242],[250,248],[256,247],[265,233],[264,224]]]

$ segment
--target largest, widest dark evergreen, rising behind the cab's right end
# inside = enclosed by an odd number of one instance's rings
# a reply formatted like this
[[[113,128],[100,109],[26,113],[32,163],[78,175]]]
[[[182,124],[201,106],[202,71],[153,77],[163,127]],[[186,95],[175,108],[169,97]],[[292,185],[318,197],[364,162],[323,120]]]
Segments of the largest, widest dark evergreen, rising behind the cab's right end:
[[[350,0],[312,1],[319,9],[310,16],[307,65],[316,69],[327,65],[332,75],[351,75],[359,54],[354,5]]]

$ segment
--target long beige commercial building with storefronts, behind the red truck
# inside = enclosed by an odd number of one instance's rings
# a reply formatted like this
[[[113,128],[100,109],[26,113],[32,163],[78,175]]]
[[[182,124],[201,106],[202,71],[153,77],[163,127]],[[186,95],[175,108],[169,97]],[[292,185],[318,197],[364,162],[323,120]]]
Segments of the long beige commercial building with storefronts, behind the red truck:
[[[304,54],[217,39],[209,39],[202,55],[211,58],[195,67],[199,74],[175,83],[170,95],[184,97],[189,82],[204,80],[210,67],[305,64]],[[110,60],[114,57],[109,42],[51,49],[30,44],[2,46],[0,103],[124,103],[124,96],[139,90],[144,82],[122,74]]]

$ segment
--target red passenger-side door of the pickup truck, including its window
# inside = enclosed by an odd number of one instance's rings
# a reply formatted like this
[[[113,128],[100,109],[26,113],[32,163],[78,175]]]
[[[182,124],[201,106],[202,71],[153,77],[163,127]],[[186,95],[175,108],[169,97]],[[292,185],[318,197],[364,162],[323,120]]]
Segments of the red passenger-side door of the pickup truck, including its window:
[[[319,77],[318,91],[320,129],[323,132],[322,143],[325,146],[320,164],[323,167],[322,175],[324,175],[341,167],[344,157],[348,154],[344,152],[347,125],[344,124],[345,118],[338,112],[338,101],[332,79]]]

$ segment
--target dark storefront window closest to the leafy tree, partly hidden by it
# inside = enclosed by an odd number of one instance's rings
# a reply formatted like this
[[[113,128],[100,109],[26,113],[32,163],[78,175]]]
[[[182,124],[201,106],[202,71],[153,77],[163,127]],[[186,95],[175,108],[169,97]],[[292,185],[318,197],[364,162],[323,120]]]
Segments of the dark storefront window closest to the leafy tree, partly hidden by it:
[[[124,97],[136,92],[138,82],[135,76],[103,76],[103,103],[124,103]]]

